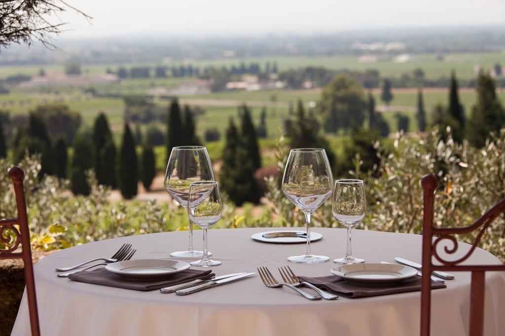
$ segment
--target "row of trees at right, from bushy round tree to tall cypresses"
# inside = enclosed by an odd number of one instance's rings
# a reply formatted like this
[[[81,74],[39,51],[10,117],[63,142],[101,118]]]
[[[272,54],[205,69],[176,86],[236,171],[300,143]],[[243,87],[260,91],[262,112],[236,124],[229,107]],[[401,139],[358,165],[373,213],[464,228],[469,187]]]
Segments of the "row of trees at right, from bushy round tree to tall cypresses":
[[[493,78],[481,72],[476,80],[477,103],[473,106],[470,119],[466,120],[464,107],[458,94],[456,74],[451,74],[449,99],[447,107],[436,106],[433,111],[432,125],[446,129],[450,126],[452,137],[461,143],[468,138],[476,147],[481,147],[489,137],[490,131],[498,131],[505,125],[503,108],[496,96],[496,85]],[[381,99],[389,103],[393,98],[389,81],[384,81]],[[366,120],[368,105],[370,128],[377,128],[381,136],[387,136],[389,129],[380,113],[375,112],[375,100],[371,94],[368,104],[365,91],[356,80],[346,75],[337,75],[324,89],[318,103],[321,118],[324,120],[324,130],[335,133],[340,130],[344,134],[353,126],[361,127]],[[397,113],[398,128],[407,130],[409,119],[406,115]],[[415,115],[419,130],[426,131],[428,121],[424,107],[422,89],[418,91],[417,112]]]

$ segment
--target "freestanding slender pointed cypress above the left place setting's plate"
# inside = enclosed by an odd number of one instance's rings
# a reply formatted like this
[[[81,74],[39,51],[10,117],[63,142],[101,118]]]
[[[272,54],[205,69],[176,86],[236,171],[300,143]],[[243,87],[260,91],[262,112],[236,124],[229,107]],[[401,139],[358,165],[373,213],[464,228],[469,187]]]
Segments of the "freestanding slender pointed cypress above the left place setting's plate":
[[[130,199],[137,194],[138,181],[137,152],[130,126],[125,122],[119,163],[119,187],[124,198]]]

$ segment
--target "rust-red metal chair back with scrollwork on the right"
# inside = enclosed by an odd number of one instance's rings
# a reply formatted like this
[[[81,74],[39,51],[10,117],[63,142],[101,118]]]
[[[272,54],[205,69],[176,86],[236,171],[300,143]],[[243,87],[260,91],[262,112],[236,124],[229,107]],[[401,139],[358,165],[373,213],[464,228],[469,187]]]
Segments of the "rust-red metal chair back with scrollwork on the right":
[[[421,288],[421,336],[430,334],[431,279],[433,271],[467,271],[472,272],[470,287],[470,336],[482,336],[484,322],[484,275],[486,271],[505,271],[505,265],[460,265],[473,253],[486,229],[501,213],[505,212],[505,199],[500,200],[481,218],[470,226],[463,228],[433,227],[434,192],[438,186],[435,176],[424,175],[421,180],[424,189],[423,196],[423,277]],[[453,254],[458,249],[458,241],[453,236],[479,230],[470,250],[457,260],[445,260],[437,252],[441,241],[448,242],[451,248],[444,247],[444,252]],[[433,236],[438,236],[433,240]],[[432,258],[438,265],[432,263]]]

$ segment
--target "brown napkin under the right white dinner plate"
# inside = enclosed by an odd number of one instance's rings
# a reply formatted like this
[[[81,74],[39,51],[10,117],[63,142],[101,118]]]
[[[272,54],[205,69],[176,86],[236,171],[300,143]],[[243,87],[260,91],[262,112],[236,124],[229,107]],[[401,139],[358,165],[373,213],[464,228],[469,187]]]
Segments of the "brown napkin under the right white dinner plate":
[[[396,293],[416,292],[421,290],[421,277],[406,280],[400,284],[387,286],[362,286],[346,282],[337,276],[319,278],[298,277],[314,286],[346,298],[361,298],[366,296],[389,295]],[[445,288],[444,284],[431,281],[431,289]]]

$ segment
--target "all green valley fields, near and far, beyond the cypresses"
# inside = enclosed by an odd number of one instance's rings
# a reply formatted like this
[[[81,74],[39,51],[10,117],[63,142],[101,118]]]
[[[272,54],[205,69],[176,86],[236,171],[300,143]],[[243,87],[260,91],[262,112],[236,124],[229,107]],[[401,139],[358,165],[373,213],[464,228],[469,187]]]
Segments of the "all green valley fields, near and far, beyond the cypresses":
[[[301,66],[316,65],[325,66],[330,69],[350,69],[365,70],[378,69],[382,76],[400,76],[402,73],[412,72],[416,68],[422,68],[427,78],[438,78],[448,76],[451,69],[455,69],[459,78],[471,78],[474,66],[479,65],[490,68],[496,62],[505,64],[505,53],[461,53],[443,55],[440,61],[436,54],[416,54],[411,60],[405,63],[394,62],[389,59],[363,63],[358,56],[326,56],[326,57],[257,57],[257,58],[228,58],[218,60],[194,61],[192,64],[199,66],[206,65],[231,65],[240,61],[261,62],[276,61],[280,70],[300,68]],[[146,65],[146,64],[123,64],[125,66]],[[156,65],[149,63],[147,65]],[[94,77],[105,73],[110,67],[117,69],[118,64],[92,64],[83,65],[83,76]],[[0,78],[16,74],[35,75],[40,69],[49,72],[63,72],[64,65],[27,65],[27,66],[0,66]],[[190,78],[167,78],[167,79],[126,79],[119,83],[93,85],[96,92],[100,94],[146,94],[150,90],[159,87],[173,89],[181,82],[192,80]],[[119,142],[122,132],[124,102],[121,98],[92,98],[84,93],[85,87],[38,87],[38,88],[12,88],[9,94],[0,95],[0,108],[8,110],[12,115],[27,114],[38,104],[45,102],[63,102],[68,104],[72,110],[81,113],[84,125],[91,126],[96,115],[103,111],[107,113],[109,121],[115,132],[115,139]],[[237,116],[237,105],[247,102],[250,106],[252,117],[255,123],[260,121],[262,107],[267,108],[267,131],[269,138],[277,138],[283,126],[283,120],[288,116],[288,104],[295,105],[298,99],[304,103],[317,102],[320,96],[320,89],[310,90],[269,90],[269,91],[228,91],[217,92],[206,95],[182,96],[181,99],[190,105],[198,105],[205,109],[205,114],[197,117],[197,133],[203,138],[205,130],[211,127],[218,128],[222,135],[227,127],[228,119]],[[411,117],[410,130],[417,130],[417,122],[413,118],[417,105],[417,91],[415,89],[393,89],[394,98],[389,106],[385,108],[380,101],[380,90],[375,89],[373,94],[376,105],[382,111],[385,119],[389,123],[390,130],[396,131],[396,119],[394,114],[401,112]],[[505,92],[498,93],[502,101],[505,101]],[[444,88],[427,88],[424,90],[424,103],[428,113],[428,119],[433,106],[442,103],[447,104],[448,92]],[[470,113],[472,105],[476,101],[476,93],[473,89],[464,88],[460,90],[460,98],[465,106],[467,115]],[[168,110],[168,101],[159,100],[158,104]],[[163,125],[162,125],[163,126]],[[164,126],[163,126],[164,127]]]

